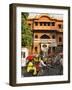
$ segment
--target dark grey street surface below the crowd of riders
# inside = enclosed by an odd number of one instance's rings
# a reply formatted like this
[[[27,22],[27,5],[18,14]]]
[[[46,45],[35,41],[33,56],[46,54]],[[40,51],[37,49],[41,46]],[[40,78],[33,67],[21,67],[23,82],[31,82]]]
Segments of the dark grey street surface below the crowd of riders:
[[[53,75],[63,75],[63,67],[62,65],[56,65],[56,66],[48,66],[48,67],[43,67],[39,72],[38,75],[35,76],[53,76]],[[32,72],[28,73],[24,70],[24,72],[22,72],[22,77],[31,77]]]

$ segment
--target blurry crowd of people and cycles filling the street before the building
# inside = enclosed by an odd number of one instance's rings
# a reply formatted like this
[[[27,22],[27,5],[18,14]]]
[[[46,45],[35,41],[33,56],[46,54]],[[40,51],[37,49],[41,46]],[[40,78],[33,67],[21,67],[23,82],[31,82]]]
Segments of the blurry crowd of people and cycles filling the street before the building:
[[[30,58],[29,58],[30,57]],[[31,76],[40,76],[45,75],[48,73],[48,70],[50,68],[56,68],[59,69],[59,72],[56,73],[58,75],[63,74],[63,55],[56,54],[51,56],[41,56],[41,55],[35,55],[35,56],[28,56],[26,58],[26,67],[24,70],[24,73],[27,73]],[[44,71],[46,71],[44,73]]]

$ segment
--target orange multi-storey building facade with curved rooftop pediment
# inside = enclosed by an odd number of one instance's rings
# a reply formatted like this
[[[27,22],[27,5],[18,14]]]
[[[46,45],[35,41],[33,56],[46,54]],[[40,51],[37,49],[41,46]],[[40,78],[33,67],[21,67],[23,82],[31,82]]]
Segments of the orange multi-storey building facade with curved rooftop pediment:
[[[62,52],[63,20],[41,14],[36,15],[34,18],[28,18],[27,23],[33,32],[30,54]]]

